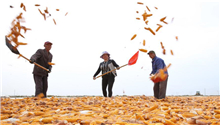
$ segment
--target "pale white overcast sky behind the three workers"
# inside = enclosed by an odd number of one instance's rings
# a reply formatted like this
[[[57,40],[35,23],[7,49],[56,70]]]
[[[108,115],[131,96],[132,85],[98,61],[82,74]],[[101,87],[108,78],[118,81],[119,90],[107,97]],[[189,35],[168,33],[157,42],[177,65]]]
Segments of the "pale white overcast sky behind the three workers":
[[[20,8],[21,2],[26,12]],[[163,25],[155,36],[144,29],[146,24],[141,15],[147,11],[146,6],[151,10],[149,14],[153,14],[148,18],[148,26],[155,31],[156,24]],[[46,7],[51,17],[45,21],[38,8],[44,10]],[[172,64],[168,70],[167,95],[194,95],[196,91],[204,95],[219,94],[217,0],[7,0],[0,2],[0,9],[1,95],[34,95],[35,92],[34,65],[23,58],[18,59],[18,55],[5,45],[4,36],[20,12],[26,20],[23,25],[32,29],[24,34],[25,39],[19,39],[28,43],[18,47],[21,54],[30,58],[37,49],[44,48],[45,41],[53,43],[52,62],[56,65],[48,77],[48,95],[102,95],[101,78],[92,79],[103,61],[100,58],[102,51],[108,51],[122,66],[140,48],[154,50],[167,65]],[[168,25],[159,21],[165,16]],[[137,17],[141,20],[136,20]],[[137,37],[131,40],[134,34]],[[144,39],[146,46],[142,45]],[[167,50],[166,55],[162,54],[160,42]],[[136,64],[117,70],[113,96],[123,95],[123,91],[126,95],[152,96],[151,69],[151,59],[140,52]]]

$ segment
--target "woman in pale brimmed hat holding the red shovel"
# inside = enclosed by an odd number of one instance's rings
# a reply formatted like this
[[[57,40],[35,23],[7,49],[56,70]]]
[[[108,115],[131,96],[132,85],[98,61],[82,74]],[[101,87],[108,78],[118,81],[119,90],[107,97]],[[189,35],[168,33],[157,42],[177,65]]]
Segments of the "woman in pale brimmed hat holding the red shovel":
[[[93,76],[93,79],[96,79],[96,76],[102,71],[102,74],[115,69],[115,67],[119,70],[119,65],[113,60],[110,59],[110,54],[107,51],[102,52],[100,56],[104,61],[99,64],[98,70]],[[108,86],[108,97],[112,97],[112,88],[115,81],[115,77],[117,76],[116,71],[112,71],[106,75],[102,76],[102,93],[104,97],[107,97],[106,88]]]

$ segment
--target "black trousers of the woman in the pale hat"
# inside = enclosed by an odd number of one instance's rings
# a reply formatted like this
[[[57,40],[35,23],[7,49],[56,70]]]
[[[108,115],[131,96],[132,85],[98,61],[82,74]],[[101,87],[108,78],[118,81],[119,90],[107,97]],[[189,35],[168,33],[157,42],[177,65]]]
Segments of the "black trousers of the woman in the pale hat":
[[[115,81],[115,76],[110,73],[102,77],[102,93],[104,97],[107,97],[106,88],[108,86],[108,97],[112,97],[112,88]]]

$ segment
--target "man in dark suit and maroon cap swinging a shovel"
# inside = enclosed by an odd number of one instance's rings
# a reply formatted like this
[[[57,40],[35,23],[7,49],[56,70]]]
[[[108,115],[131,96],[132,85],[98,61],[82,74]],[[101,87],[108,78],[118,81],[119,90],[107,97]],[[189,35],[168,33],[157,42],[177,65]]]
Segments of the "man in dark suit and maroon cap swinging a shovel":
[[[50,49],[52,47],[52,43],[46,41],[44,43],[45,49],[38,49],[37,52],[31,56],[30,63],[36,62],[37,64],[45,67],[48,71],[34,66],[33,77],[35,82],[35,96],[43,93],[44,97],[47,97],[47,89],[48,89],[48,73],[51,72],[52,66],[48,64],[48,62],[52,62],[53,55],[50,53]]]

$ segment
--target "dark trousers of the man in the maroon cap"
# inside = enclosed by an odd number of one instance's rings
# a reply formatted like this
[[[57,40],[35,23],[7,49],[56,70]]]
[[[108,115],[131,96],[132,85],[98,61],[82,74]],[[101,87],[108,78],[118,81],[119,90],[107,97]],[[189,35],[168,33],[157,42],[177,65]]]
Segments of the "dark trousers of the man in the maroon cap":
[[[44,97],[47,97],[47,82],[48,76],[40,76],[34,75],[34,82],[35,82],[35,96],[39,95],[40,93],[44,94]]]

